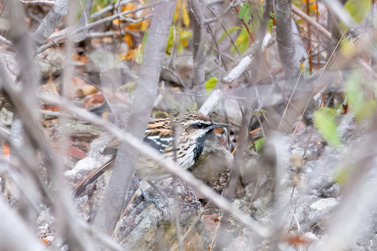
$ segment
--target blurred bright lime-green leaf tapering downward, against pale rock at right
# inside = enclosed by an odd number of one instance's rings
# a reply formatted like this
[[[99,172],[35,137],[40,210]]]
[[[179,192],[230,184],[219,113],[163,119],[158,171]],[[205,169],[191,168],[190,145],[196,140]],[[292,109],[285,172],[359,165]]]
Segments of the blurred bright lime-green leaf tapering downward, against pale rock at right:
[[[335,116],[337,112],[331,108],[321,108],[314,112],[314,125],[319,130],[322,137],[335,147],[342,145],[340,140],[337,124],[335,122]]]

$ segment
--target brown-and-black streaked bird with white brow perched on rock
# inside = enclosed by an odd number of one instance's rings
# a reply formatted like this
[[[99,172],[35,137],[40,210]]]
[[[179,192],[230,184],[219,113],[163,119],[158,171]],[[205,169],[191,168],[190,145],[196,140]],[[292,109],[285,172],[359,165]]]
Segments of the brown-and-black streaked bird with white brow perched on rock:
[[[143,144],[152,146],[161,152],[162,156],[175,160],[179,167],[186,170],[201,155],[204,141],[213,129],[228,126],[212,121],[209,116],[200,111],[185,112],[182,116],[150,120]],[[179,133],[177,133],[177,130],[179,130]],[[179,138],[175,140],[175,136],[179,136]],[[101,174],[113,168],[118,148],[119,139],[111,139],[102,154],[112,155],[112,158],[92,171],[77,185],[73,192],[74,198],[79,197],[86,190],[86,187],[97,180]],[[140,179],[153,185],[152,181],[160,181],[170,177],[172,177],[172,174],[153,159],[144,156],[139,157],[134,176],[138,184]],[[146,200],[149,199],[143,190],[142,193]]]

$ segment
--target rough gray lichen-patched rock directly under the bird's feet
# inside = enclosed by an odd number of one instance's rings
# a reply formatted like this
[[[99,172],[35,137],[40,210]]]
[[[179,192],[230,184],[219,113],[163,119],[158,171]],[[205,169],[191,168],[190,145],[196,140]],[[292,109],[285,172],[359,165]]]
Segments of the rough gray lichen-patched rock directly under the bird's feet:
[[[115,241],[125,250],[168,250],[176,243],[174,217],[178,214],[182,235],[190,227],[195,229],[184,240],[184,250],[204,250],[207,240],[202,238],[206,235],[203,232],[203,221],[192,225],[202,209],[193,189],[179,180],[175,186],[172,178],[156,185],[169,198],[164,199],[162,211],[155,204],[149,204],[138,197],[131,204],[129,213],[123,217]],[[173,199],[174,187],[177,187],[179,193],[177,202]]]

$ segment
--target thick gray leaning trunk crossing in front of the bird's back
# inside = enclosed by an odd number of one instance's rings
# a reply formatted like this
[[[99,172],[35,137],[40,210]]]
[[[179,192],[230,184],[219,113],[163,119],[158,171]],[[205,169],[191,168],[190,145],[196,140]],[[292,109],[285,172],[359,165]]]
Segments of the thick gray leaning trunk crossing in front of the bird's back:
[[[144,137],[156,99],[162,55],[165,52],[175,6],[175,1],[169,1],[154,8],[132,110],[125,128],[126,132],[132,133],[140,141]],[[95,228],[103,228],[109,234],[113,232],[135,172],[137,157],[138,153],[132,147],[127,147],[126,142],[120,143],[109,186],[93,223]]]

